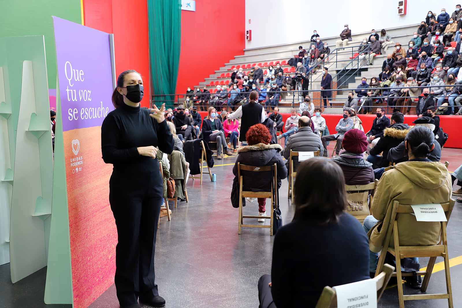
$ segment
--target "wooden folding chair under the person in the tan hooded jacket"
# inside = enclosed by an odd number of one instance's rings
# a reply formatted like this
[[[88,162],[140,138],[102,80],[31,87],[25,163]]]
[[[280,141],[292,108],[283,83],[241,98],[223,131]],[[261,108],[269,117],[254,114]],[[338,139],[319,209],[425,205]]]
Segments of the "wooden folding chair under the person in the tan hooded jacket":
[[[452,209],[454,208],[455,200],[450,199],[449,202],[442,203],[444,213],[446,214],[446,219],[449,222]],[[385,236],[385,242],[380,253],[380,257],[377,263],[377,272],[380,272],[385,261],[385,255],[387,252],[395,256],[396,261],[396,272],[393,272],[393,277],[396,277],[398,280],[398,298],[400,303],[400,308],[404,308],[404,301],[409,300],[421,300],[421,299],[442,299],[446,298],[448,300],[449,308],[453,308],[454,304],[452,302],[452,290],[451,290],[451,278],[449,272],[449,254],[448,254],[448,237],[446,233],[446,225],[448,222],[441,223],[441,240],[438,245],[429,245],[429,246],[400,246],[399,243],[399,231],[397,216],[401,213],[413,213],[411,205],[403,205],[398,201],[393,202],[393,208],[391,212],[390,224],[387,229],[387,234]],[[418,230],[417,230],[418,231]],[[413,232],[416,232],[414,230]],[[420,232],[425,232],[425,230],[420,230]],[[389,247],[391,236],[393,234],[393,241],[395,247]],[[428,281],[432,276],[433,266],[437,257],[443,257],[444,259],[444,272],[446,274],[446,292],[441,294],[418,294],[418,295],[403,295],[403,286],[401,284],[401,279],[403,276],[412,276],[412,272],[401,273],[401,259],[403,258],[413,258],[413,257],[430,257],[428,261],[426,271],[417,272],[418,276],[425,275],[424,280],[422,281],[422,287],[420,290],[426,292]],[[376,275],[377,275],[376,272]]]

